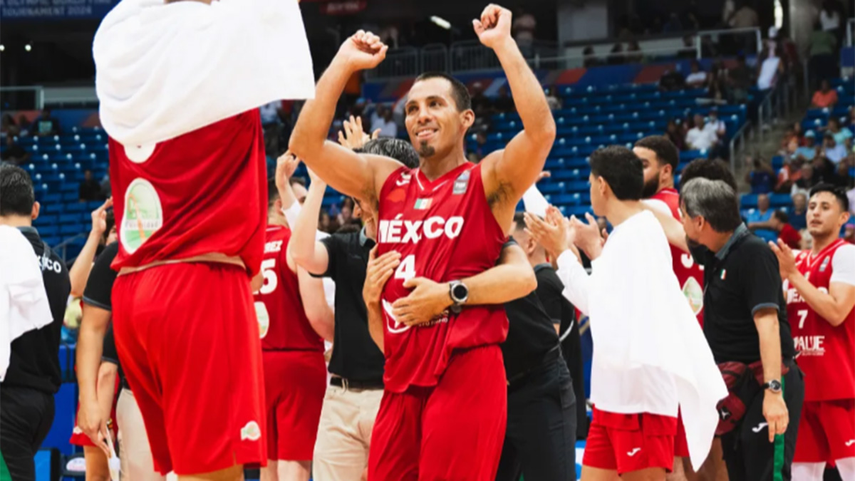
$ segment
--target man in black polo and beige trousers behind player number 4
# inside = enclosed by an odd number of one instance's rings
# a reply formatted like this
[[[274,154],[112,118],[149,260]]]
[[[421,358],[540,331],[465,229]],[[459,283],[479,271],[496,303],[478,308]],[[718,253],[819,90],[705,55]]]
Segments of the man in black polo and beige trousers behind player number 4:
[[[371,140],[363,146],[363,151],[396,158],[409,167],[418,165],[416,151],[404,140]],[[290,247],[294,260],[310,274],[335,281],[333,356],[329,361],[333,377],[321,409],[312,470],[316,479],[349,481],[363,476],[374,418],[383,397],[386,359],[371,341],[363,301],[365,269],[375,245],[377,227],[374,215],[354,199],[354,217],[362,217],[363,229],[316,241],[321,201],[327,186],[311,172],[310,175],[309,194],[292,225]]]

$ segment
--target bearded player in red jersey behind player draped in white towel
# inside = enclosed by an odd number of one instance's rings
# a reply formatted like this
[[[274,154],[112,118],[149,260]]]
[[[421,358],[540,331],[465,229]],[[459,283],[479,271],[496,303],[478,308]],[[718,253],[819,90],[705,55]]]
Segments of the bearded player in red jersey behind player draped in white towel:
[[[641,159],[644,167],[644,190],[641,192],[641,198],[645,199],[645,204],[680,220],[680,193],[674,188],[674,175],[680,164],[680,151],[677,150],[676,145],[663,135],[651,135],[636,141],[633,152]],[[671,246],[671,261],[674,264],[677,282],[680,282],[689,306],[698,317],[698,323],[703,326],[704,271],[694,263],[691,255],[682,252],[679,247]],[[674,472],[669,472],[667,479],[686,481],[695,477],[688,460],[686,431],[679,416],[677,421],[677,434],[674,438]],[[709,461],[705,464],[711,465],[709,469],[713,470],[715,470],[714,465],[721,465],[723,471],[725,467],[721,460],[721,445],[717,441],[714,441],[713,445],[708,457]]]

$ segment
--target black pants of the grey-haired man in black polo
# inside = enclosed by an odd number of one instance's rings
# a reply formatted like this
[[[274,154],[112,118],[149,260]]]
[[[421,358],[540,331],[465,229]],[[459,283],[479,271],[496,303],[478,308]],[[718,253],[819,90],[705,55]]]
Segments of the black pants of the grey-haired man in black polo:
[[[769,427],[763,417],[765,391],[761,390],[754,396],[742,423],[722,436],[730,481],[773,481],[775,472],[781,472],[783,481],[791,477],[801,406],[805,400],[805,375],[793,361],[786,364],[790,368],[783,379],[784,402],[790,419],[787,432],[782,438],[777,436],[775,442],[769,442]]]

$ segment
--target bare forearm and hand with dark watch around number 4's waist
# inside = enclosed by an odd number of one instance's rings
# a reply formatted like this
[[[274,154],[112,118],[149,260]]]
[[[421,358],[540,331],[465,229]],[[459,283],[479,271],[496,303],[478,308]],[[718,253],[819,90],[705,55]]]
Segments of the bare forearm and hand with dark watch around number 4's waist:
[[[504,304],[531,293],[537,288],[537,278],[525,252],[520,246],[505,246],[498,265],[461,282],[469,288],[471,306]],[[407,297],[392,304],[392,313],[398,322],[407,325],[424,324],[441,316],[451,305],[447,282],[433,282],[424,277],[404,281],[404,288],[412,288]]]

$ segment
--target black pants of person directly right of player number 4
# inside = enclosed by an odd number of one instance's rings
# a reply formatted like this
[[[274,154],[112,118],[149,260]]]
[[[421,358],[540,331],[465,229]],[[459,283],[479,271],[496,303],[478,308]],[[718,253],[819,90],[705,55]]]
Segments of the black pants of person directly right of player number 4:
[[[576,398],[560,356],[512,383],[498,481],[575,481]]]

